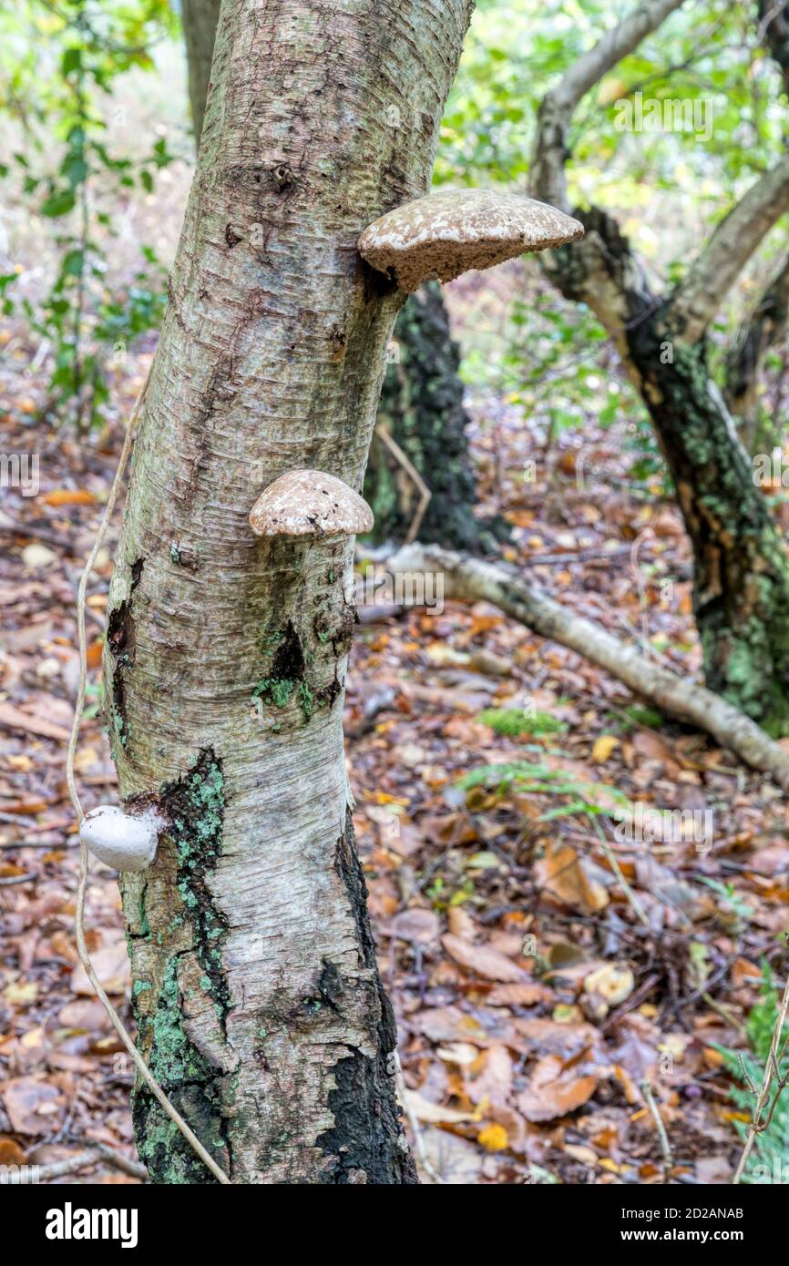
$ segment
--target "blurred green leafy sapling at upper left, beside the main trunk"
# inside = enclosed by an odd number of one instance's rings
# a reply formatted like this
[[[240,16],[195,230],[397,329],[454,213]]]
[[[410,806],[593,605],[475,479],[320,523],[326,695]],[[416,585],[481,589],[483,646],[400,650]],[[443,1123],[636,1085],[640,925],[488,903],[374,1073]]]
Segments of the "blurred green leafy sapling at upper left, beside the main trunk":
[[[136,185],[149,191],[171,162],[163,138],[142,160],[111,154],[101,100],[118,75],[151,68],[151,41],[172,30],[166,0],[27,0],[0,13],[0,109],[22,128],[13,154],[32,210],[52,223],[60,266],[48,295],[25,300],[30,327],[52,344],[51,405],[72,404],[80,428],[104,418],[110,358],[161,322],[163,270],[151,248],[132,286],[110,292],[106,239],[117,234],[118,196]],[[54,162],[53,162],[54,158]],[[5,286],[10,277],[4,277]],[[13,290],[4,311],[13,310]]]

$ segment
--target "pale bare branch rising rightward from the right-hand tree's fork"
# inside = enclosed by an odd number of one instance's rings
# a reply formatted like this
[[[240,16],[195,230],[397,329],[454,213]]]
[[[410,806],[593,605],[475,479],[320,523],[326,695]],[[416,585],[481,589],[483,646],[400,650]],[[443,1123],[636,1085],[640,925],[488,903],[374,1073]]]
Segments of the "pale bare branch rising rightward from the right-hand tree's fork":
[[[697,343],[754,251],[789,210],[789,156],[752,185],[721,220],[671,300],[671,324]]]

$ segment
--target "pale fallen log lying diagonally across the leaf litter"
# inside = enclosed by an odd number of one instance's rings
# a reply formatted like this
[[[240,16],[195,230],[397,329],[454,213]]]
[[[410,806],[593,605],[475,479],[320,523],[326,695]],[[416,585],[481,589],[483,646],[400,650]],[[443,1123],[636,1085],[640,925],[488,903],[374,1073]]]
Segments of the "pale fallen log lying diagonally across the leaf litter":
[[[436,546],[405,546],[390,566],[408,572],[438,572],[445,598],[493,603],[541,637],[578,651],[648,699],[666,715],[690,722],[712,734],[721,747],[736,752],[746,765],[769,774],[789,791],[789,756],[759,725],[726,699],[652,663],[600,624],[575,615],[510,568]]]

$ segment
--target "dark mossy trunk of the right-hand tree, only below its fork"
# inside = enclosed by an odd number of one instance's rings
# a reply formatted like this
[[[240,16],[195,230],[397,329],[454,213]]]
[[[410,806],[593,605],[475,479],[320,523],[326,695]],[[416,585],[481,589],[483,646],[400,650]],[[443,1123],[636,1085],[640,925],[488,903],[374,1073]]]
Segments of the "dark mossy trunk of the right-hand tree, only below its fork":
[[[660,363],[672,342],[674,362]],[[693,546],[693,609],[710,690],[789,729],[789,561],[700,344],[645,322],[629,338]]]

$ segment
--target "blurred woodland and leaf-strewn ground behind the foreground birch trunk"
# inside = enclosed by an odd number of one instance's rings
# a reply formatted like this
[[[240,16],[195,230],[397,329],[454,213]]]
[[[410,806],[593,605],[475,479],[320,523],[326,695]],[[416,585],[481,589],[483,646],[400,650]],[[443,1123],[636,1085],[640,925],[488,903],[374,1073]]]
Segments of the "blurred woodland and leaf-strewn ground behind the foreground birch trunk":
[[[191,0],[187,25],[211,8]],[[363,589],[414,537],[509,566],[789,753],[789,11],[664,5],[560,118],[557,90],[629,8],[477,4],[434,184],[556,201],[566,181],[598,253],[409,299],[367,473],[346,733],[424,1181],[729,1182],[785,977],[789,820],[764,766],[490,595],[429,610]],[[134,1156],[132,1067],[73,944],[73,599],[194,171],[182,16],[0,4],[0,449],[37,456],[28,486],[0,489],[0,1163],[82,1157],[94,1181],[139,1179],[96,1150]],[[669,403],[636,372],[645,332],[674,367]],[[110,571],[111,546],[89,586],[79,774],[96,800],[114,786]],[[623,841],[617,810],[638,803],[685,812],[684,837]],[[130,1014],[105,868],[89,914]],[[786,1181],[788,1148],[781,1100],[750,1180]]]

